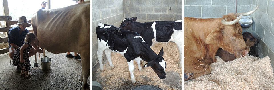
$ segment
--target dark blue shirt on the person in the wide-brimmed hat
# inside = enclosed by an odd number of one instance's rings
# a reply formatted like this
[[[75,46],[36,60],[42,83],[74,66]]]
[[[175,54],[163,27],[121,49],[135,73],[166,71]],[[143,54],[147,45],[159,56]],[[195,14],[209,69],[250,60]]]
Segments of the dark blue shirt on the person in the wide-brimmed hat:
[[[25,39],[27,33],[29,33],[29,30],[25,29],[24,31],[22,31],[22,33],[20,35],[19,26],[9,29],[9,33],[8,33],[9,46],[11,46],[10,45],[11,43],[14,43],[15,45],[20,47],[22,44],[25,43],[24,39]]]

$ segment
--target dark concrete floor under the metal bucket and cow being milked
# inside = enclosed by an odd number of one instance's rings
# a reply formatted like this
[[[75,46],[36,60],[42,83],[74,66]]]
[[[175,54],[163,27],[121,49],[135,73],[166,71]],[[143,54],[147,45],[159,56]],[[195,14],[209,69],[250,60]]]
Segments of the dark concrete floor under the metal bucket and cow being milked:
[[[81,89],[79,81],[82,70],[81,60],[67,58],[65,53],[45,52],[46,56],[52,59],[51,69],[43,71],[40,60],[37,60],[39,66],[34,67],[34,56],[32,56],[30,57],[30,72],[33,72],[31,77],[24,77],[17,73],[16,66],[13,66],[12,62],[11,66],[8,66],[10,58],[7,53],[0,55],[0,89]],[[71,52],[71,54],[74,53]],[[88,84],[90,85],[90,77]]]

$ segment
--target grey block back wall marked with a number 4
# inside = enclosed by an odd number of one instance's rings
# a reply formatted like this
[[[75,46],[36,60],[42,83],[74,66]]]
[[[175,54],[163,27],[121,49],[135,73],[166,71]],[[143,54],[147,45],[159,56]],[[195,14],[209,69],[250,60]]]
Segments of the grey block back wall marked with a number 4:
[[[137,22],[182,20],[182,0],[124,0],[124,12]]]

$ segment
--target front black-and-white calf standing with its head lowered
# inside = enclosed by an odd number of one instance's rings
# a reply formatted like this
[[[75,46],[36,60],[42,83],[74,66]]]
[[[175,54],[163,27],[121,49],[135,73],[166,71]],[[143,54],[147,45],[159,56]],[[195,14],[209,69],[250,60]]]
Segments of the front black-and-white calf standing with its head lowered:
[[[164,53],[163,48],[157,55],[152,51],[148,44],[146,44],[140,34],[130,30],[117,28],[112,25],[102,23],[99,23],[98,25],[99,26],[96,28],[96,34],[98,37],[97,57],[100,63],[99,67],[101,71],[104,70],[102,64],[103,51],[105,51],[109,65],[114,68],[110,57],[110,53],[113,51],[122,54],[126,58],[133,85],[137,84],[133,75],[133,60],[137,62],[139,70],[142,70],[140,61],[144,59],[146,62],[148,62],[144,67],[150,66],[154,72],[157,73],[160,79],[166,78],[166,62],[162,57]],[[142,59],[135,59],[138,57]]]

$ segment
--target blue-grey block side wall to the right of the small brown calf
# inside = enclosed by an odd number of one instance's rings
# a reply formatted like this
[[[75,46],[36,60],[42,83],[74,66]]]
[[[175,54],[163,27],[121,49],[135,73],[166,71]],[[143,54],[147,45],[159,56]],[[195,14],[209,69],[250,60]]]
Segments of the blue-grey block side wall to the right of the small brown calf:
[[[255,48],[260,58],[269,56],[272,67],[274,66],[274,0],[255,0],[255,8],[259,8],[253,13],[252,35],[259,38],[259,44]],[[274,70],[274,67],[273,67]]]

